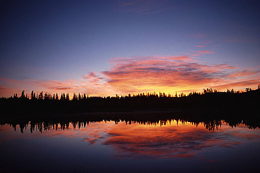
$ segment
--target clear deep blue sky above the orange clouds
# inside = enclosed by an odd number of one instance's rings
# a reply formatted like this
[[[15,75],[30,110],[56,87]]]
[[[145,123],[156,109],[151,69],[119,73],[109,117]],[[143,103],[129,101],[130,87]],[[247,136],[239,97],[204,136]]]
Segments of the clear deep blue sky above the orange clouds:
[[[251,69],[256,73],[248,78],[260,80],[257,0],[11,0],[0,6],[1,95],[15,90],[7,79],[79,80],[95,72],[109,82],[114,79],[103,72],[116,65],[109,63],[115,57],[189,56]]]

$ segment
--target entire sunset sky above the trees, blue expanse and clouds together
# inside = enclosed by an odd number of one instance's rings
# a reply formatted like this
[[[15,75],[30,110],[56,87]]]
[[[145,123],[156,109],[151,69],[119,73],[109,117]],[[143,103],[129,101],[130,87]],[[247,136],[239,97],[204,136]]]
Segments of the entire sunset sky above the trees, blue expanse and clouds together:
[[[0,96],[260,84],[258,0],[2,0]]]

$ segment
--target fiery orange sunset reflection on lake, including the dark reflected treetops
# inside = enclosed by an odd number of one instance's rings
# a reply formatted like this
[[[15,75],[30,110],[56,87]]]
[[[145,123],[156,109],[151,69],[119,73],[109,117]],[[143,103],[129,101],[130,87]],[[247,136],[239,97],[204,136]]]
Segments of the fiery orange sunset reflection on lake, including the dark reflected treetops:
[[[260,139],[260,134],[252,134],[249,130],[252,127],[245,125],[243,121],[229,124],[224,120],[102,120],[25,122],[8,125],[14,131],[18,126],[21,133],[29,129],[31,133],[45,131],[43,135],[50,137],[79,137],[90,145],[95,145],[103,139],[101,144],[112,147],[116,151],[116,157],[191,158],[201,150],[211,147],[233,147],[245,140]]]

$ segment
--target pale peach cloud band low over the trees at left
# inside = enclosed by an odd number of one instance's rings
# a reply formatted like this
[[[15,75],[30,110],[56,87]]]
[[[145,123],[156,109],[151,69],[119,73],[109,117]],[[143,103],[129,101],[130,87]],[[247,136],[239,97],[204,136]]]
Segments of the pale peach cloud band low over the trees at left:
[[[29,94],[32,90],[36,93],[44,91],[49,93],[69,93],[70,96],[76,93],[86,93],[89,95],[96,96],[107,96],[111,93],[115,93],[113,89],[106,84],[104,80],[100,77],[93,77],[92,79],[86,79],[83,76],[83,79],[70,79],[70,80],[10,80],[5,78],[0,78],[3,85],[0,85],[0,95],[1,96],[12,96],[14,93],[17,93],[18,96],[21,93],[21,90],[25,90],[25,93]],[[60,96],[60,95],[59,95]]]

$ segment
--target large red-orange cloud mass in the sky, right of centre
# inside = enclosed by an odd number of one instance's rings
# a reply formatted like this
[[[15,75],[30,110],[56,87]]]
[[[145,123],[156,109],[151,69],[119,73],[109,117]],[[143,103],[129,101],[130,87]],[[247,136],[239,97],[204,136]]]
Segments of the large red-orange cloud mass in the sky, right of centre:
[[[104,71],[108,84],[120,94],[137,92],[175,93],[175,91],[202,90],[234,82],[245,70],[228,64],[207,64],[185,57],[127,57],[112,59],[114,65]],[[229,85],[228,87],[233,87]],[[226,88],[225,88],[226,89]]]

